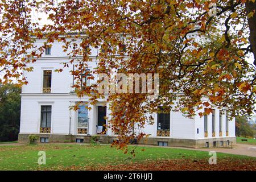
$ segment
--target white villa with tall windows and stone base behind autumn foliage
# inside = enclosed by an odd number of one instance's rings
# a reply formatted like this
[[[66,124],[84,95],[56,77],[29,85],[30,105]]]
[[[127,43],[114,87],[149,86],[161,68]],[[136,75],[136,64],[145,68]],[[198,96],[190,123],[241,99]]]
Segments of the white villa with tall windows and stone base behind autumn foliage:
[[[42,46],[44,39],[36,40]],[[110,143],[115,139],[111,130],[104,130],[108,123],[104,119],[109,115],[109,104],[99,100],[91,110],[80,106],[77,111],[69,110],[76,102],[88,101],[88,97],[78,98],[69,73],[73,66],[64,68],[63,72],[54,72],[63,68],[69,57],[62,51],[62,43],[55,42],[46,48],[44,55],[36,63],[33,72],[24,72],[28,84],[22,88],[19,142],[28,142],[28,135],[39,135],[39,142],[88,142],[93,135],[98,135],[100,142]],[[89,69],[96,67],[97,50],[92,51],[93,61]],[[76,63],[73,63],[76,64]],[[96,80],[85,80],[92,84]],[[224,111],[225,109],[223,109]],[[221,114],[224,113],[224,114]],[[185,118],[181,113],[154,115],[154,125],[147,125],[144,131],[151,134],[140,143],[159,146],[212,147],[229,146],[236,143],[235,121],[228,121],[228,115],[215,109],[213,114],[193,119]]]

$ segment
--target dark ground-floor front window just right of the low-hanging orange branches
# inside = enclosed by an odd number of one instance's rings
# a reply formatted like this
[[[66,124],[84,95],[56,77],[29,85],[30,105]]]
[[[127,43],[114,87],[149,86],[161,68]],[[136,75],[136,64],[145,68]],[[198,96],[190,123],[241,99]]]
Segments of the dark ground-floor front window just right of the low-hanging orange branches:
[[[164,113],[163,107],[160,107],[160,113],[158,113],[158,134],[159,137],[170,136],[170,110]]]

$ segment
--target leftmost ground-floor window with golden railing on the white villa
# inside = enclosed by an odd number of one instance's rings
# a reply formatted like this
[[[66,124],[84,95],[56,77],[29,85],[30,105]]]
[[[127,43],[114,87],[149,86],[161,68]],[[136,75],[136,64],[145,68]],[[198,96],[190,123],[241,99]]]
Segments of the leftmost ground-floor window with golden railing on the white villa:
[[[52,106],[41,106],[40,133],[51,133]]]

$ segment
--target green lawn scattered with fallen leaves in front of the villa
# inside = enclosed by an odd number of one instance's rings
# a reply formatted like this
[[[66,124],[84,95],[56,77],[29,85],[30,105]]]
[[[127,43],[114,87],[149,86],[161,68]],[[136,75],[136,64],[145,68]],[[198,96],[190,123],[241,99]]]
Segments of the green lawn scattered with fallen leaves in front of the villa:
[[[130,146],[129,148],[131,148]],[[145,151],[142,151],[142,149]],[[38,152],[46,151],[46,165],[38,164]],[[24,146],[0,146],[0,170],[63,169],[71,166],[97,166],[97,164],[128,164],[161,159],[205,159],[208,152],[181,150],[164,147],[137,147],[136,156],[123,154],[109,145],[90,146],[85,144],[38,144]],[[248,156],[217,154],[218,159],[228,158],[255,160]]]

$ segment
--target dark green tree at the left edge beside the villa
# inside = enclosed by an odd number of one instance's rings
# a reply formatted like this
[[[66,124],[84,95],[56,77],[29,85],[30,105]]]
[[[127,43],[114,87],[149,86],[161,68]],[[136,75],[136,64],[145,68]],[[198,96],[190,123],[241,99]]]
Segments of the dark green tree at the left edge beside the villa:
[[[0,85],[0,141],[18,139],[20,122],[20,88],[14,84]]]

